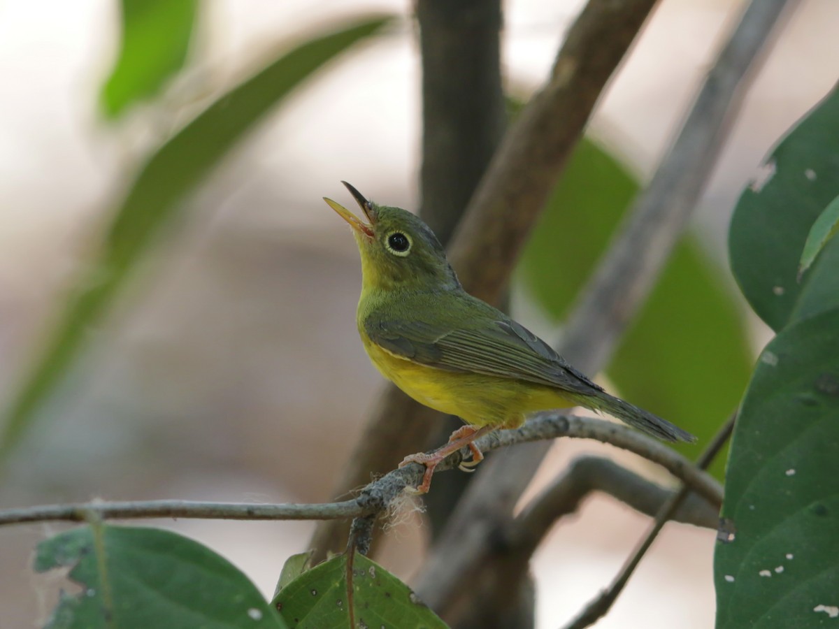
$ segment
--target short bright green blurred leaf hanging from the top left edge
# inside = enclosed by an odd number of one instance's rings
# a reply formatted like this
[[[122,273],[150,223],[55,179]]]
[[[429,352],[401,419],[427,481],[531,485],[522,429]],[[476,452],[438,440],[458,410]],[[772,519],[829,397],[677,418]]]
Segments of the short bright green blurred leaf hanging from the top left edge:
[[[195,0],[122,0],[122,49],[101,95],[108,117],[154,96],[183,67],[196,7]]]

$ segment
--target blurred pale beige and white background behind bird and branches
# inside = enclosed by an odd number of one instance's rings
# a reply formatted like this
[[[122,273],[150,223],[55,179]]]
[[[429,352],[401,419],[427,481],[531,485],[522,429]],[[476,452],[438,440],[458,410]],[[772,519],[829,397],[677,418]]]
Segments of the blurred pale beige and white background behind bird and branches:
[[[383,388],[357,338],[355,243],[320,198],[347,204],[339,183],[346,179],[375,201],[419,205],[420,60],[412,5],[199,4],[185,69],[153,101],[109,120],[100,93],[120,45],[118,3],[0,2],[6,403],[150,153],[284,49],[358,16],[399,19],[294,91],[190,195],[116,306],[85,330],[80,359],[8,460],[0,507],[91,498],[326,501]],[[609,86],[590,135],[641,182],[654,172],[742,7],[734,0],[662,0]],[[504,3],[508,91],[526,99],[539,87],[580,8],[576,0]],[[836,81],[837,26],[833,0],[799,3],[753,82],[696,211],[692,242],[724,299],[735,304],[748,339],[747,366],[768,333],[738,303],[728,279],[728,217],[763,155]],[[554,340],[559,327],[533,299],[532,275],[517,276],[513,314]],[[737,384],[741,391],[744,382]],[[722,408],[736,401],[735,395]],[[534,486],[582,452],[612,454],[582,443],[555,450]],[[308,522],[155,524],[209,544],[266,595],[313,529]],[[555,528],[534,562],[539,627],[560,625],[596,595],[646,526],[647,518],[594,496]],[[39,626],[57,588],[67,587],[60,575],[34,576],[30,568],[34,545],[59,529],[0,529],[4,629]],[[713,538],[670,524],[597,626],[642,619],[649,627],[711,626]],[[421,516],[407,511],[389,533],[382,563],[409,580],[424,544]]]

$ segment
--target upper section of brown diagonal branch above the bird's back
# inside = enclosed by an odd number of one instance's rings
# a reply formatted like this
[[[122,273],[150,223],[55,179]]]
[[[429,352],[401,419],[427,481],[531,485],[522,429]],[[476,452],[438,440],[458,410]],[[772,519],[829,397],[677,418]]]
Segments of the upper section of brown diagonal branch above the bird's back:
[[[547,84],[503,138],[457,226],[451,263],[466,289],[497,303],[565,162],[655,0],[590,0]]]

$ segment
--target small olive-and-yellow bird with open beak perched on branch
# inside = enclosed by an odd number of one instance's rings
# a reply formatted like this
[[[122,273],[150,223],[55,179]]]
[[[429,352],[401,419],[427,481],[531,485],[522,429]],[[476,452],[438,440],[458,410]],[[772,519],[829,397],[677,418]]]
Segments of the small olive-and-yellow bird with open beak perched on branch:
[[[430,227],[398,207],[378,205],[341,181],[362,210],[359,218],[336,201],[361,254],[362,291],[356,323],[367,356],[383,377],[411,398],[465,424],[430,453],[409,455],[425,465],[430,490],[440,461],[468,447],[472,471],[482,459],[474,443],[493,429],[514,429],[531,413],[581,406],[607,413],[664,441],[695,441],[675,424],[607,393],[544,340],[463,289]]]

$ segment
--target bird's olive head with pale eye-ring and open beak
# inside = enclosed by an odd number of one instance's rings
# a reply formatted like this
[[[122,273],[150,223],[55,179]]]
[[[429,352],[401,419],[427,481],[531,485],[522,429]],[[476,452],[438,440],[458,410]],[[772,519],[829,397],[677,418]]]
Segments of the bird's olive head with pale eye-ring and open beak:
[[[430,227],[398,207],[376,205],[347,184],[368,222],[331,199],[324,200],[352,227],[362,256],[364,289],[459,287],[446,252]]]

